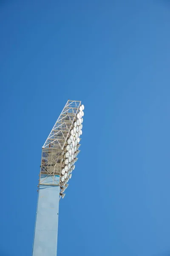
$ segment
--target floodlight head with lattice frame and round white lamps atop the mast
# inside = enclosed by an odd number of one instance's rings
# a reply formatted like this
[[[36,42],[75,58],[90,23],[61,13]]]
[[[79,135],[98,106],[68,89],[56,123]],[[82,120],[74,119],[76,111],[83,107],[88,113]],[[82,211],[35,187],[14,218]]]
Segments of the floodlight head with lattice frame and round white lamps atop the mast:
[[[40,184],[68,187],[74,170],[82,135],[84,105],[68,100],[51,133],[42,147]],[[41,176],[42,175],[42,176]],[[46,175],[46,178],[44,178]],[[59,179],[56,178],[58,175]],[[48,182],[48,177],[51,183]],[[45,182],[46,181],[46,182]],[[62,193],[62,198],[64,194]]]

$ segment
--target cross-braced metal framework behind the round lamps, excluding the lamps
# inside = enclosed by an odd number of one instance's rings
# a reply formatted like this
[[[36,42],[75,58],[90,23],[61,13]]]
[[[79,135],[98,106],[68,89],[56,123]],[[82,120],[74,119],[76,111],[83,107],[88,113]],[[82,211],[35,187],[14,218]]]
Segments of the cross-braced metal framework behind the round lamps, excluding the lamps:
[[[39,185],[59,186],[65,143],[76,119],[81,101],[68,100],[42,146]]]

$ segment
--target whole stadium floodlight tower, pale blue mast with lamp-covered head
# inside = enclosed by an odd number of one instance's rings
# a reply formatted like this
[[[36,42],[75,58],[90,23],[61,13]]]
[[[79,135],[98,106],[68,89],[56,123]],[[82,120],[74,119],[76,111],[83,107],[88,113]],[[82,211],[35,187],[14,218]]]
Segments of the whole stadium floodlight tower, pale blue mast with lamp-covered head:
[[[57,256],[59,200],[78,159],[83,110],[68,100],[42,147],[32,256]]]

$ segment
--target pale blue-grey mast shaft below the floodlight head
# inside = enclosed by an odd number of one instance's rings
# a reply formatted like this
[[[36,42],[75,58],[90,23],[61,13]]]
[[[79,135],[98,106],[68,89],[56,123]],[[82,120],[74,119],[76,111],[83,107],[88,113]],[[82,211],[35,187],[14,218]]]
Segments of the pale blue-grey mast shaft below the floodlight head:
[[[32,256],[57,256],[59,190],[59,186],[39,187]]]

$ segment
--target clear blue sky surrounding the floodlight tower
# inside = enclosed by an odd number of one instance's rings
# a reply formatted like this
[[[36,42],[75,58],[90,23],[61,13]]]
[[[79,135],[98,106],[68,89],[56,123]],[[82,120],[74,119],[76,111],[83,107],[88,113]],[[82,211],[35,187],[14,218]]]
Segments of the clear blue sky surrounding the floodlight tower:
[[[170,255],[170,1],[1,0],[0,98],[0,256],[31,256],[68,99],[85,116],[57,255]]]

